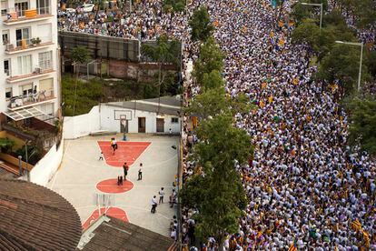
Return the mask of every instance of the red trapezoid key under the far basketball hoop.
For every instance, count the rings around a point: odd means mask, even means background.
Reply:
[[[107,165],[121,167],[124,162],[128,166],[134,164],[134,161],[143,154],[143,151],[150,146],[150,142],[129,142],[120,141],[117,142],[117,150],[115,154],[111,148],[110,141],[98,141],[98,145],[101,151],[104,153],[104,159]]]

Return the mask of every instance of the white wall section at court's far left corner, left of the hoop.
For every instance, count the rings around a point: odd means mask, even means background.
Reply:
[[[95,105],[88,114],[64,117],[64,138],[72,139],[88,136],[91,132],[100,130],[99,106]]]

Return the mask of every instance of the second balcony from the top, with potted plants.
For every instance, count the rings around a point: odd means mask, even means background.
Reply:
[[[36,37],[35,37],[36,38]],[[40,43],[33,44],[34,38],[17,40],[15,44],[6,44],[5,54],[14,55],[17,53],[24,53],[29,51],[34,51],[38,49],[43,49],[49,45],[54,45],[52,42],[52,37],[41,37]]]

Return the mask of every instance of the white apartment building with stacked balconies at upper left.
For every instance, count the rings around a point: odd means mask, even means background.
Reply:
[[[60,105],[56,1],[0,1],[0,113],[48,121]]]

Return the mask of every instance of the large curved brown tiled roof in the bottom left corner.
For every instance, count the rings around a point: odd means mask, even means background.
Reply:
[[[0,179],[1,250],[74,250],[82,235],[74,207],[54,191]]]

